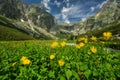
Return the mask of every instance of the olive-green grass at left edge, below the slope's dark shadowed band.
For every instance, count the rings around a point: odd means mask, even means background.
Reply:
[[[0,40],[32,40],[32,36],[27,35],[17,29],[0,25]]]

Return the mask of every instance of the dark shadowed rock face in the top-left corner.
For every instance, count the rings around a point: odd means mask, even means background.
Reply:
[[[19,4],[19,0],[0,0],[0,14],[12,19],[20,18]]]

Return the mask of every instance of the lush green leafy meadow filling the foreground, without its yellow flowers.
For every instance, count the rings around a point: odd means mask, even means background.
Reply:
[[[100,42],[88,42],[84,47],[51,48],[54,41],[0,42],[0,80],[119,80],[120,52],[110,51]],[[70,41],[71,42],[71,41]],[[91,52],[95,46],[96,53]],[[50,55],[55,55],[53,60]],[[23,65],[21,57],[31,61]],[[59,60],[65,64],[60,66]],[[16,62],[14,66],[12,64]]]

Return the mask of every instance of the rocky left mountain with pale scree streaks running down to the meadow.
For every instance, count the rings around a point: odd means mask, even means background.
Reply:
[[[9,19],[12,28],[25,32],[34,38],[57,39],[49,32],[51,27],[55,26],[56,19],[45,11],[43,5],[28,5],[21,3],[20,0],[0,0],[0,15]],[[0,25],[7,23],[2,19],[0,21]]]

